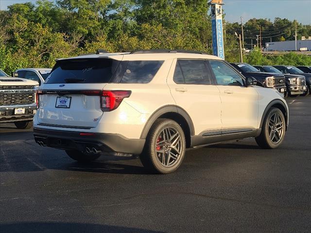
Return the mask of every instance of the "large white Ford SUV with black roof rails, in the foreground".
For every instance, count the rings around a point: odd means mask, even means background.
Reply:
[[[176,170],[186,148],[255,137],[278,147],[288,106],[218,57],[143,50],[58,59],[38,90],[40,146],[77,161],[101,152],[138,154],[153,172]]]

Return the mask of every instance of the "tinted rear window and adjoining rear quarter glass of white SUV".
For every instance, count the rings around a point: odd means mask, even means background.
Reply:
[[[57,61],[46,83],[149,83],[164,61],[109,58]]]

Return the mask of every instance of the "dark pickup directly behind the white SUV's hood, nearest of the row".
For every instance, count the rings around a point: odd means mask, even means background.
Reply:
[[[273,88],[284,95],[286,90],[285,77],[283,74],[274,72],[260,72],[257,68],[247,63],[231,63],[245,77],[254,77],[257,80],[257,85]]]

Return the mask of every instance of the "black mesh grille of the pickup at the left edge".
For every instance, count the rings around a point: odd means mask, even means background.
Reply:
[[[32,104],[35,102],[35,93],[0,93],[0,105]]]

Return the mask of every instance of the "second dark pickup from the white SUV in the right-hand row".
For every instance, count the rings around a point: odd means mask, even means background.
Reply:
[[[277,68],[272,66],[254,66],[257,69],[259,69],[261,72],[274,72],[274,73],[280,73]],[[298,74],[284,74],[285,76],[285,85],[286,85],[286,91],[284,93],[284,96],[295,96],[301,94],[301,88],[300,85],[297,84],[296,80],[303,80],[305,79],[305,76],[298,75]]]

